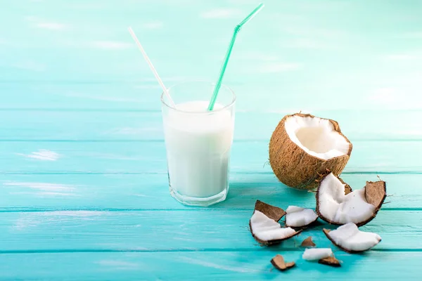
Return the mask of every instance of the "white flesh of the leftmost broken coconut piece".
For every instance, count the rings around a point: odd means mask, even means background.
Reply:
[[[296,233],[293,228],[281,228],[280,223],[260,211],[255,211],[250,218],[250,230],[257,239],[262,241],[283,240]]]

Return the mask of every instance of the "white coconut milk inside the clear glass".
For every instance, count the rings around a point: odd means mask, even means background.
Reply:
[[[218,104],[217,111],[207,114],[207,105],[178,104],[163,120],[170,185],[180,195],[210,197],[229,185],[234,118]]]

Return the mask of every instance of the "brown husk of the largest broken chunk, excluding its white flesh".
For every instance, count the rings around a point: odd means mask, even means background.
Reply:
[[[321,213],[319,212],[319,187],[321,186],[321,183],[326,176],[328,176],[328,174],[324,175],[322,180],[319,181],[319,186],[318,186],[318,189],[316,190],[316,195],[315,195],[316,209],[315,209],[315,211],[316,211],[316,214],[319,216],[319,218],[321,218],[322,220],[326,221],[327,223],[340,226],[343,223],[336,223],[335,221],[331,221],[328,218],[325,218],[324,216],[322,216]],[[352,192],[352,188],[350,188],[350,185],[347,185],[347,183],[345,183],[339,176],[336,176],[336,177],[343,184],[346,184],[345,195]],[[376,214],[378,214],[378,211],[381,209],[383,202],[385,200],[385,197],[387,197],[387,185],[386,185],[385,181],[376,181],[376,182],[366,181],[365,199],[366,199],[366,202],[375,206],[375,210],[373,211],[373,215],[371,216],[371,218],[368,218],[366,221],[355,223],[356,226],[358,226],[358,227],[364,226],[364,225],[366,225],[366,223],[369,223],[370,221],[372,221],[373,218],[376,217]]]

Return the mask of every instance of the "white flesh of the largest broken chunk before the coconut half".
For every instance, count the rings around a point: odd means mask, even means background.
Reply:
[[[366,202],[365,188],[345,195],[345,184],[333,173],[328,174],[318,189],[318,211],[330,223],[362,223],[376,212],[373,204]]]

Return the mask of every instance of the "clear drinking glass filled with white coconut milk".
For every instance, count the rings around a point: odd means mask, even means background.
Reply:
[[[204,81],[172,86],[168,91],[176,107],[161,96],[170,194],[182,204],[209,206],[229,191],[236,96],[222,86],[208,111],[214,87]]]

